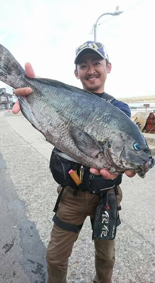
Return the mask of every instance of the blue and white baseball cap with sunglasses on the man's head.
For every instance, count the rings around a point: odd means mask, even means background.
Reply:
[[[100,54],[100,56],[104,59],[108,59],[107,52],[105,50],[104,45],[101,42],[96,42],[96,41],[86,41],[82,45],[78,46],[76,51],[75,51],[75,60],[74,64],[77,64],[78,59],[80,58],[79,55],[82,55],[81,52],[84,52],[84,50],[93,50],[94,52],[97,52]]]

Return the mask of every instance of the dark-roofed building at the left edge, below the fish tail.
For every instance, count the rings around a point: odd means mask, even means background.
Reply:
[[[12,109],[17,97],[12,89],[12,94],[6,92],[6,88],[0,88],[0,110]]]

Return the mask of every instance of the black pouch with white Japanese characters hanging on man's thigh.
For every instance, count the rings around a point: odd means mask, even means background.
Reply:
[[[92,239],[113,240],[117,227],[117,197],[115,192],[104,194],[97,205]]]

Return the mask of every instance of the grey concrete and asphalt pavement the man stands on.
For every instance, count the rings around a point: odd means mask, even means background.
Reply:
[[[45,283],[46,247],[57,184],[52,145],[19,113],[0,112],[0,283]],[[113,283],[155,283],[155,168],[124,176]],[[69,261],[68,283],[90,283],[94,245],[86,219]],[[53,282],[54,283],[54,282]]]

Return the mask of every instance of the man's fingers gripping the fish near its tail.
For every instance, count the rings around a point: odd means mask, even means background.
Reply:
[[[36,78],[30,63],[25,64],[25,73],[28,78],[32,78],[32,77]],[[31,92],[32,92],[32,88],[17,88],[14,91],[15,95],[21,95],[21,96],[29,95]],[[20,106],[19,106],[19,101],[17,100],[14,107],[12,108],[12,112],[14,114],[17,114],[19,111],[20,111]]]

